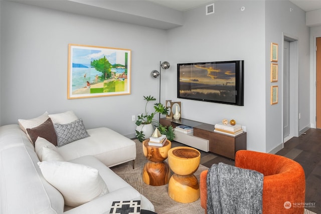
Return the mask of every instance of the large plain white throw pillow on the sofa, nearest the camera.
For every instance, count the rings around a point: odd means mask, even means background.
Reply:
[[[65,161],[43,161],[38,165],[68,206],[76,207],[108,193],[106,183],[95,168]]]

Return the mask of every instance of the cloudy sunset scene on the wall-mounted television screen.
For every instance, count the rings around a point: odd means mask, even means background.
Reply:
[[[189,99],[235,102],[235,63],[180,65],[179,92]]]

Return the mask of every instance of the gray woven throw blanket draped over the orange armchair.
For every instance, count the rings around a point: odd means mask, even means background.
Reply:
[[[207,213],[262,213],[263,177],[254,170],[213,164],[207,174]]]

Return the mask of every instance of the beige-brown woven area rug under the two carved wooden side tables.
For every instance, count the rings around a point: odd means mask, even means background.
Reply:
[[[155,207],[155,212],[158,214],[169,213],[202,213],[204,209],[201,207],[200,199],[192,203],[180,203],[174,201],[168,194],[168,184],[163,186],[150,186],[142,180],[142,169],[144,164],[148,161],[142,153],[142,143],[134,140],[136,143],[136,160],[135,168],[132,168],[131,161],[128,163],[113,166],[111,169],[118,174],[127,183],[133,186],[137,191],[150,200]],[[202,171],[207,170],[208,167],[200,165],[198,170],[194,173],[198,180]],[[171,172],[173,173],[173,172]]]

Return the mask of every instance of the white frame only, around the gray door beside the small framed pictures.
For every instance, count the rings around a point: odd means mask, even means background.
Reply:
[[[290,135],[284,138],[283,135],[283,97],[282,97],[282,139],[283,139],[283,147],[284,143],[289,140],[291,137],[298,137],[299,136],[299,119],[298,119],[298,38],[293,37],[291,35],[283,33],[282,35],[282,66],[279,68],[282,69],[281,76],[282,76],[282,92],[283,92],[283,62],[284,62],[284,54],[283,54],[283,47],[284,41],[290,43],[290,91],[292,96],[290,96],[290,103],[294,105],[290,105]]]

